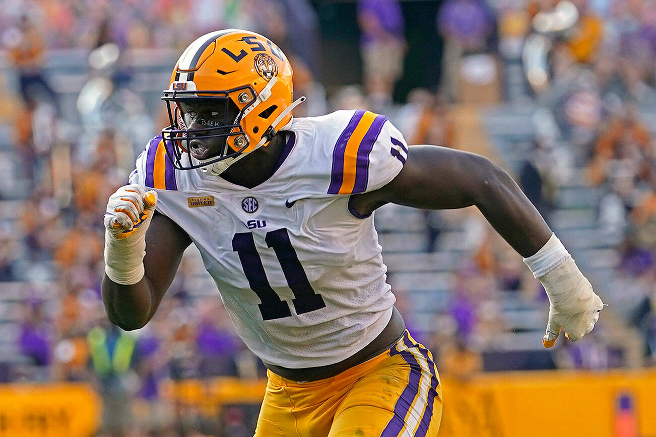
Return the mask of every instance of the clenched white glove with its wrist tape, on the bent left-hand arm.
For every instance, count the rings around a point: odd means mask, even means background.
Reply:
[[[136,284],[144,276],[146,229],[157,203],[156,191],[125,185],[110,196],[105,212],[105,273],[117,284]]]

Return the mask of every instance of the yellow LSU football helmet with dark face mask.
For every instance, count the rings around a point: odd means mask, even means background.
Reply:
[[[268,145],[291,122],[293,71],[287,56],[269,39],[251,31],[224,29],[207,33],[184,50],[173,69],[167,102],[170,126],[162,137],[169,158],[180,170],[203,168],[220,174],[248,153]],[[211,115],[188,126],[183,108],[209,106]],[[197,114],[187,109],[192,118]],[[216,115],[216,119],[213,116]],[[190,152],[192,139],[223,138],[221,151],[207,159]]]

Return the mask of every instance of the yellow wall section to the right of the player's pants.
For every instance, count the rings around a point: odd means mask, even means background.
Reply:
[[[656,371],[488,373],[443,396],[443,437],[656,436]]]

